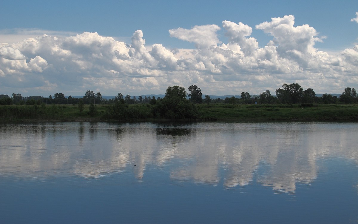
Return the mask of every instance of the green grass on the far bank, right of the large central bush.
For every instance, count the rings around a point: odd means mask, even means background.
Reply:
[[[202,118],[233,121],[358,120],[357,104],[200,105]]]

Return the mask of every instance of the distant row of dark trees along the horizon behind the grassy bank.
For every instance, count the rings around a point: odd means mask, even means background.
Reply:
[[[357,91],[353,88],[346,87],[342,94],[337,96],[332,96],[330,94],[323,94],[321,97],[317,97],[313,89],[306,89],[297,84],[283,84],[282,89],[279,88],[276,90],[276,95],[273,96],[270,93],[270,90],[263,91],[260,96],[251,96],[248,92],[242,92],[241,98],[226,97],[225,99],[211,99],[209,95],[203,94],[201,89],[196,85],[188,87],[189,93],[185,94],[185,97],[189,97],[189,101],[195,104],[206,103],[206,104],[313,104],[313,103],[324,103],[324,104],[337,104],[337,103],[358,103]],[[185,91],[186,92],[186,91]],[[63,93],[55,93],[53,96],[49,97],[42,96],[27,96],[22,97],[21,94],[13,93],[10,96],[0,95],[0,105],[41,105],[41,104],[73,104],[76,105],[80,101],[83,104],[115,104],[117,101],[124,101],[125,104],[135,104],[135,103],[148,103],[155,105],[158,100],[161,100],[160,97],[155,98],[150,96],[139,96],[138,99],[136,96],[122,95],[121,92],[112,98],[112,99],[103,99],[100,92],[93,92],[92,90],[87,90],[82,98],[75,98],[72,96],[65,97]]]

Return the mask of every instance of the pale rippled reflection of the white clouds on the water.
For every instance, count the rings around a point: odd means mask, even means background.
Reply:
[[[352,123],[2,123],[0,176],[145,181],[146,172],[169,172],[173,181],[294,193],[315,181],[320,158],[358,164],[354,133]]]

